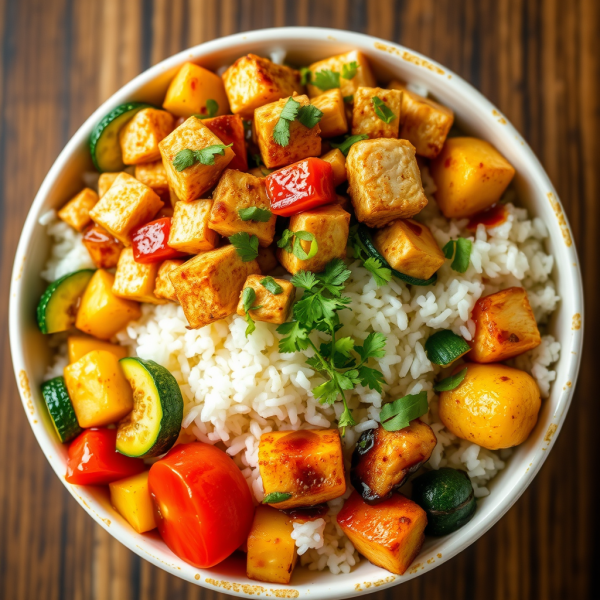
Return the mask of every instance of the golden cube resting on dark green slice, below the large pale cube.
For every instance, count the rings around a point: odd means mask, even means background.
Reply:
[[[429,279],[446,260],[429,228],[412,219],[377,230],[373,242],[392,269],[415,279]]]

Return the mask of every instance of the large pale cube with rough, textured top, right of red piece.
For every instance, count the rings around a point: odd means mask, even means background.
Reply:
[[[369,227],[413,217],[427,205],[415,148],[407,140],[356,142],[346,172],[356,218]]]

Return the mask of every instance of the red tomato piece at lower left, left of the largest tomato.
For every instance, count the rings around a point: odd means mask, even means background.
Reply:
[[[65,479],[77,485],[106,485],[146,468],[139,458],[119,454],[116,444],[116,429],[86,429],[69,446]]]

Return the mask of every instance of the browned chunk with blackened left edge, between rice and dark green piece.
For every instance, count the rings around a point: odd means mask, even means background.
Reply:
[[[436,443],[433,430],[420,419],[398,431],[381,425],[367,429],[352,454],[350,482],[366,502],[381,502],[429,460]]]

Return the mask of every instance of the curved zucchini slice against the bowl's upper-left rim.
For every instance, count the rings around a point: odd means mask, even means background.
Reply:
[[[154,108],[145,102],[126,102],[111,110],[92,130],[90,154],[101,173],[120,171],[125,166],[119,145],[119,131],[142,108]]]

